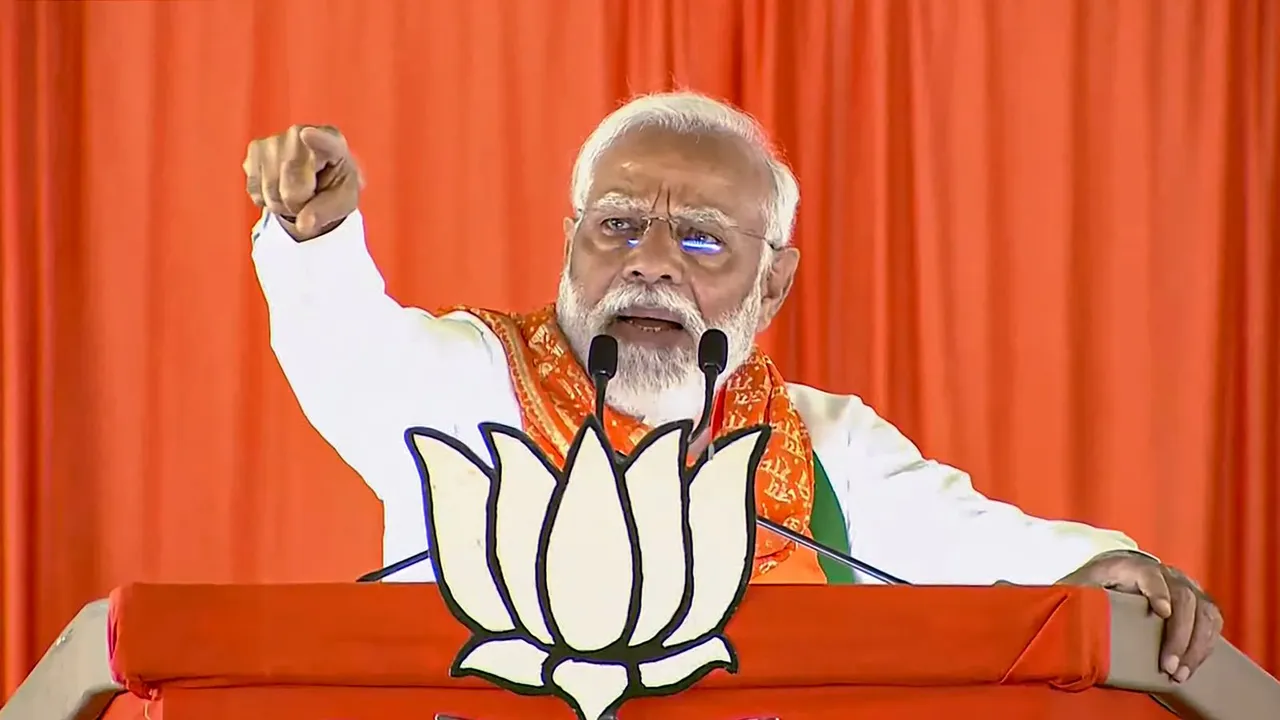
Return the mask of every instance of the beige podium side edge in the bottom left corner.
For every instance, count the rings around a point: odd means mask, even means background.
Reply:
[[[4,706],[0,720],[96,720],[124,688],[111,676],[106,598],[86,605]]]

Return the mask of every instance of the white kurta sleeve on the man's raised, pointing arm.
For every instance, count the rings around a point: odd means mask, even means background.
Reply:
[[[500,346],[470,315],[436,318],[390,299],[360,213],[306,242],[264,214],[252,255],[271,348],[307,420],[384,502],[417,497],[404,430],[486,419],[486,397],[509,392]]]

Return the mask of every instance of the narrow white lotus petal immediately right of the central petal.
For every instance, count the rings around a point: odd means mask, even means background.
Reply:
[[[632,456],[626,471],[643,578],[640,618],[628,641],[632,646],[652,641],[685,598],[682,430],[673,424],[669,430],[659,428],[654,433],[653,441]]]

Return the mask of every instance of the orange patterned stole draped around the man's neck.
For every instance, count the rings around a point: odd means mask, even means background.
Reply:
[[[556,307],[508,315],[457,306],[475,315],[502,341],[524,430],[557,464],[564,462],[573,436],[595,406],[595,387],[556,324]],[[756,512],[812,537],[813,446],[787,396],[782,374],[755,350],[724,383],[724,424],[718,434],[768,424],[769,442],[755,478]],[[612,409],[604,429],[614,448],[630,454],[652,428]],[[753,583],[824,584],[818,556],[768,530],[755,534]]]

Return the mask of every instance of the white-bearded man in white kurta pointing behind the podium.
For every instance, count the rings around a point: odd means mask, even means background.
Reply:
[[[554,305],[431,315],[388,297],[365,247],[361,176],[342,135],[293,127],[250,143],[248,192],[265,213],[253,261],[271,346],[302,410],[385,507],[384,555],[426,546],[421,486],[403,432],[425,425],[486,456],[477,424],[521,427],[563,460],[593,411],[582,364],[617,338],[605,424],[630,451],[648,428],[701,413],[696,342],[728,337],[713,437],[772,428],[760,515],[914,583],[1102,584],[1169,619],[1161,666],[1184,680],[1221,616],[1198,587],[1125,536],[1030,518],[927,460],[858,397],[788,383],[754,337],[791,290],[800,193],[746,114],[694,94],[640,97],[605,118],[573,167],[573,217]],[[758,534],[753,582],[868,582]],[[421,564],[403,580],[429,580]]]

